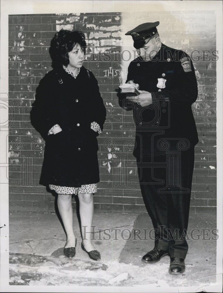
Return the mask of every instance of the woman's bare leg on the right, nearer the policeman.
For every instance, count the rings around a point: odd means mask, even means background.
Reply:
[[[92,193],[80,193],[78,194],[80,203],[80,220],[81,220],[81,232],[83,237],[83,245],[87,251],[95,250],[91,244],[92,236],[92,217],[94,211],[93,195]],[[83,227],[86,226],[86,227]]]

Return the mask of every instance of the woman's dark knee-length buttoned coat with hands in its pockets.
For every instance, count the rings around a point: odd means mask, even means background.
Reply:
[[[97,132],[101,130],[106,109],[96,78],[84,67],[77,78],[61,67],[41,79],[31,110],[31,122],[45,139],[40,184],[80,187],[99,182]],[[62,131],[48,135],[59,124]]]

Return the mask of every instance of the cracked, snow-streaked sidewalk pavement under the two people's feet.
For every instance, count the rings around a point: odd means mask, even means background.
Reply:
[[[82,251],[76,212],[73,218],[76,255],[68,259],[63,255],[65,233],[55,212],[10,213],[10,285],[136,286],[137,290],[146,288],[152,292],[155,287],[199,288],[215,283],[215,240],[189,240],[186,271],[182,275],[170,275],[168,256],[154,264],[141,261],[153,248],[152,240],[143,240],[143,232],[141,240],[136,236],[136,229],[153,228],[146,213],[94,213],[92,242],[101,253],[98,262]],[[187,231],[194,228],[216,229],[216,216],[190,214]]]

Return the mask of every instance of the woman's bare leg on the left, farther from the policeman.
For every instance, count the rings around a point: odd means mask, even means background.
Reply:
[[[71,202],[71,194],[58,194],[57,205],[60,212],[60,217],[67,234],[67,247],[75,247],[75,235],[73,230],[73,209]]]

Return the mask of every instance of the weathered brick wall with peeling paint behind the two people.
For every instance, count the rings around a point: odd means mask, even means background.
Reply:
[[[161,40],[170,47],[188,54],[193,50],[216,49],[216,18],[212,11],[196,11],[196,15],[195,11],[142,13],[140,23],[148,21],[160,21]],[[94,195],[95,208],[146,211],[132,155],[132,114],[125,112],[123,116],[115,92],[125,81],[131,61],[121,60],[120,52],[133,49],[131,38],[124,33],[140,23],[134,15],[118,12],[9,16],[11,210],[54,210],[54,196],[38,183],[44,142],[32,128],[29,113],[40,79],[51,70],[50,41],[64,28],[85,32],[89,48],[84,66],[96,76],[107,108],[104,131],[98,138],[101,181]],[[216,63],[202,60],[193,63],[199,95],[192,108],[200,141],[195,147],[191,211],[212,213],[216,209]]]

